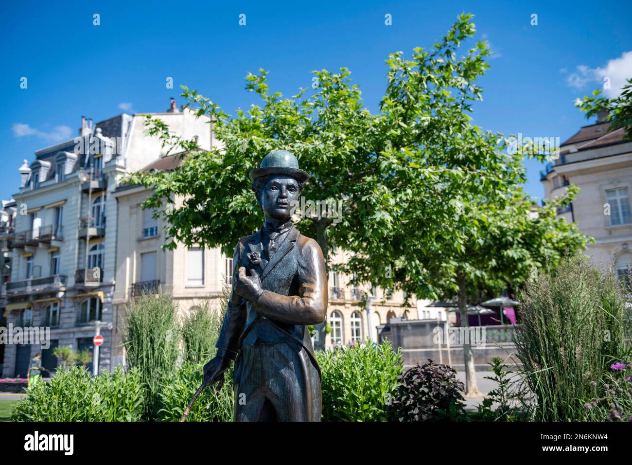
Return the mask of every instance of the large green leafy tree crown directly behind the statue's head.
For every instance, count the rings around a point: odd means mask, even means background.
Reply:
[[[231,254],[239,237],[261,223],[248,172],[273,149],[288,149],[312,174],[306,199],[343,206],[336,218],[304,214],[298,228],[317,240],[325,260],[332,247],[356,252],[351,268],[374,268],[375,276],[362,271],[363,281],[381,280],[385,264],[394,263],[405,247],[389,245],[389,238],[411,209],[425,212],[424,228],[434,228],[447,218],[445,201],[463,185],[483,193],[502,181],[501,170],[492,168],[511,168],[486,144],[477,144],[467,163],[463,158],[471,142],[468,112],[481,98],[475,80],[487,69],[483,57],[489,54],[485,42],[465,56],[456,54],[475,32],[471,17],[461,15],[430,51],[418,47],[410,60],[401,52],[389,56],[387,90],[376,115],[363,107],[360,88],[351,84],[346,68],[313,71],[316,88],[300,89],[292,98],[269,91],[266,71],[248,74],[246,89],[262,105],[233,116],[184,87],[189,108],[212,116],[222,146],[202,151],[194,139],[174,135],[147,115],[147,133],[183,158],[177,170],[129,178],[153,190],[143,207],[166,220],[164,247],[173,249],[178,241],[220,246]],[[164,208],[178,198],[181,205]]]

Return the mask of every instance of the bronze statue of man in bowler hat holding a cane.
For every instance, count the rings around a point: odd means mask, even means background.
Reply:
[[[250,172],[264,224],[235,247],[217,355],[204,366],[212,384],[236,359],[235,421],[320,421],[320,368],[307,325],[327,313],[325,261],[317,242],[291,223],[309,177],[282,150]]]

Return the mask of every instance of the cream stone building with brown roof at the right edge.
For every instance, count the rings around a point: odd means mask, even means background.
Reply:
[[[615,263],[623,276],[632,260],[632,139],[624,139],[623,128],[608,132],[605,116],[561,144],[559,158],[540,172],[540,180],[547,199],[563,194],[569,183],[580,188],[558,214],[595,239],[586,251],[595,264]]]

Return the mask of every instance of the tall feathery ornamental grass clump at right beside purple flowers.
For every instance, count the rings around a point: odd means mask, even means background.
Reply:
[[[592,417],[585,399],[609,362],[626,350],[630,320],[621,283],[585,256],[564,259],[557,270],[526,283],[521,295],[516,350],[533,394],[536,421]]]

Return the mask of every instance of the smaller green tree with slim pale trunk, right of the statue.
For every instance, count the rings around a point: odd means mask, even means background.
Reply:
[[[513,290],[540,268],[554,268],[567,252],[585,247],[589,240],[575,223],[557,216],[557,209],[576,195],[578,189],[573,185],[540,209],[532,208],[532,200],[520,186],[502,189],[506,189],[504,201],[476,196],[456,200],[453,219],[444,225],[442,237],[428,241],[420,235],[411,242],[410,260],[420,259],[437,295],[443,299],[456,296],[461,326],[468,326],[468,304],[487,300],[469,300],[476,299],[479,290],[494,295]],[[466,397],[480,397],[468,338],[463,342],[463,354]]]

